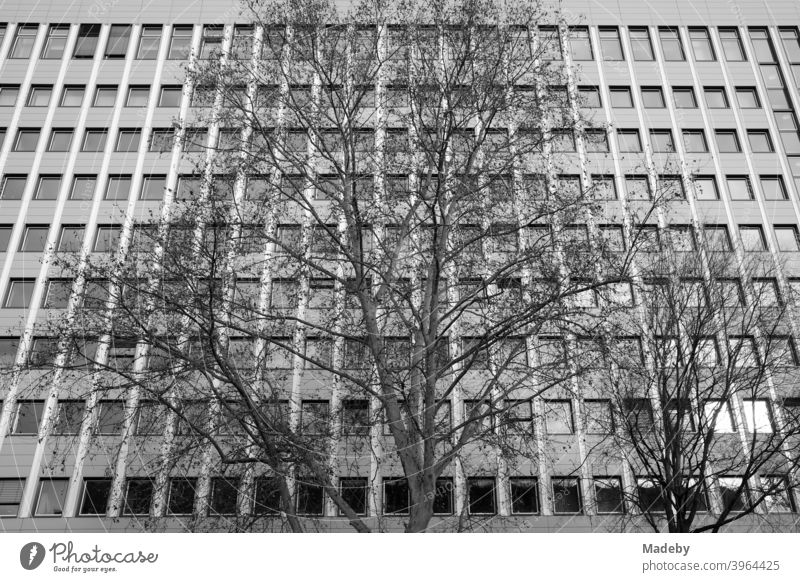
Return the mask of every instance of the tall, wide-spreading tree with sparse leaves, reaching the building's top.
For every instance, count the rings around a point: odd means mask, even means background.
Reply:
[[[204,32],[190,64],[173,156],[191,169],[161,215],[106,259],[62,257],[58,365],[88,372],[90,404],[126,399],[118,468],[161,491],[197,475],[198,515],[233,503],[236,527],[280,511],[302,531],[329,503],[370,531],[383,505],[423,531],[443,478],[535,459],[531,403],[623,308],[608,290],[632,251],[562,153],[587,139],[563,28],[535,2],[245,8],[252,26]],[[136,438],[148,414],[158,451]],[[236,483],[219,499],[215,475]],[[253,483],[263,498],[237,496]]]

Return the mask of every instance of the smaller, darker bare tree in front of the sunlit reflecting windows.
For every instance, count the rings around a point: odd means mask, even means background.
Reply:
[[[709,231],[694,250],[675,238],[641,261],[638,313],[609,328],[607,359],[594,362],[607,367],[587,421],[608,433],[594,452],[630,473],[597,502],[627,506],[623,521],[656,531],[780,519],[795,503],[800,429],[784,406],[797,365],[788,298],[771,259],[734,253]]]

